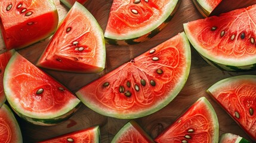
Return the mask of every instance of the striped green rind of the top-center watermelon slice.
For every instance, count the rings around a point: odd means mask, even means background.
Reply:
[[[104,33],[105,41],[112,45],[133,45],[140,42],[144,42],[147,39],[152,38],[153,36],[161,32],[161,30],[164,29],[164,27],[169,23],[169,21],[171,21],[172,17],[178,10],[180,2],[181,2],[180,0],[174,0],[174,2],[170,2],[169,8],[166,8],[168,12],[164,14],[161,20],[159,20],[159,23],[150,25],[148,26],[147,29],[136,31],[131,36],[111,35],[110,33],[105,32]],[[144,37],[144,38],[141,39],[141,37]]]

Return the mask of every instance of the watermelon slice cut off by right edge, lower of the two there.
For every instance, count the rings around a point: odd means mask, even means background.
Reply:
[[[256,76],[242,75],[220,80],[207,89],[224,110],[256,140]]]

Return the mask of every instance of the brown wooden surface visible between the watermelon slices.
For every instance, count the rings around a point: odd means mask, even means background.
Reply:
[[[60,20],[62,20],[67,13],[67,8],[63,4],[60,4],[58,0],[55,0],[55,4],[57,5]],[[88,8],[88,10],[98,20],[98,23],[100,23],[103,30],[106,28],[111,4],[112,1],[110,0],[88,0],[87,4],[85,4],[85,7]],[[223,0],[219,7],[215,9],[213,14],[220,14],[236,8],[247,7],[248,5],[252,4],[256,4],[256,1],[237,0],[234,2],[230,0]],[[188,21],[196,20],[198,18],[202,18],[202,15],[196,10],[195,6],[192,4],[192,0],[181,0],[180,7],[178,7],[178,11],[172,18],[171,22],[154,38],[150,39],[149,41],[131,46],[106,45],[107,65],[106,69],[101,73],[76,74],[52,70],[45,71],[55,77],[55,79],[57,79],[59,82],[67,86],[67,88],[69,88],[71,91],[76,92],[88,82],[91,82],[92,80],[97,79],[116,67],[121,66],[121,64],[131,60],[134,57],[137,57],[137,55],[140,55],[159,43],[164,42],[166,39],[172,38],[173,36],[177,35],[177,33],[183,32],[183,23],[187,23]],[[36,63],[39,55],[41,55],[48,41],[49,38],[45,39],[45,41],[41,41],[32,46],[21,49],[18,52],[20,52],[21,55],[26,57],[32,63]],[[4,48],[2,39],[0,39],[0,48]],[[231,117],[229,117],[229,115],[226,114],[225,111],[222,110],[220,106],[205,93],[205,90],[218,80],[239,74],[255,74],[255,71],[234,73],[215,69],[214,67],[206,64],[192,47],[192,67],[190,70],[189,79],[187,80],[187,83],[180,94],[178,94],[177,97],[162,110],[135,120],[144,130],[146,130],[147,133],[149,133],[150,136],[152,136],[152,138],[155,138],[159,132],[174,122],[180,114],[182,114],[190,105],[193,104],[193,102],[204,96],[211,102],[217,113],[220,124],[220,135],[221,133],[231,132],[249,139],[249,136],[243,132],[243,130],[231,119]],[[110,142],[113,136],[125,123],[128,122],[128,120],[102,116],[90,110],[85,105],[82,105],[78,112],[76,112],[69,120],[61,123],[60,125],[36,126],[24,122],[24,120],[19,118],[18,122],[20,123],[24,142],[41,141],[43,139],[62,135],[64,133],[88,128],[93,125],[100,125],[101,142]]]

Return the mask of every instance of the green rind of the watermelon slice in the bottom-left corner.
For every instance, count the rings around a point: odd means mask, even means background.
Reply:
[[[5,112],[8,114],[8,116],[10,117],[10,119],[12,120],[12,123],[14,124],[14,126],[16,128],[15,131],[16,131],[16,136],[18,138],[18,141],[16,141],[16,142],[17,143],[23,142],[22,134],[21,134],[21,130],[20,130],[20,125],[18,125],[18,122],[16,120],[16,117],[13,114],[13,111],[11,111],[11,109],[6,104],[2,105],[1,110],[5,110]]]

